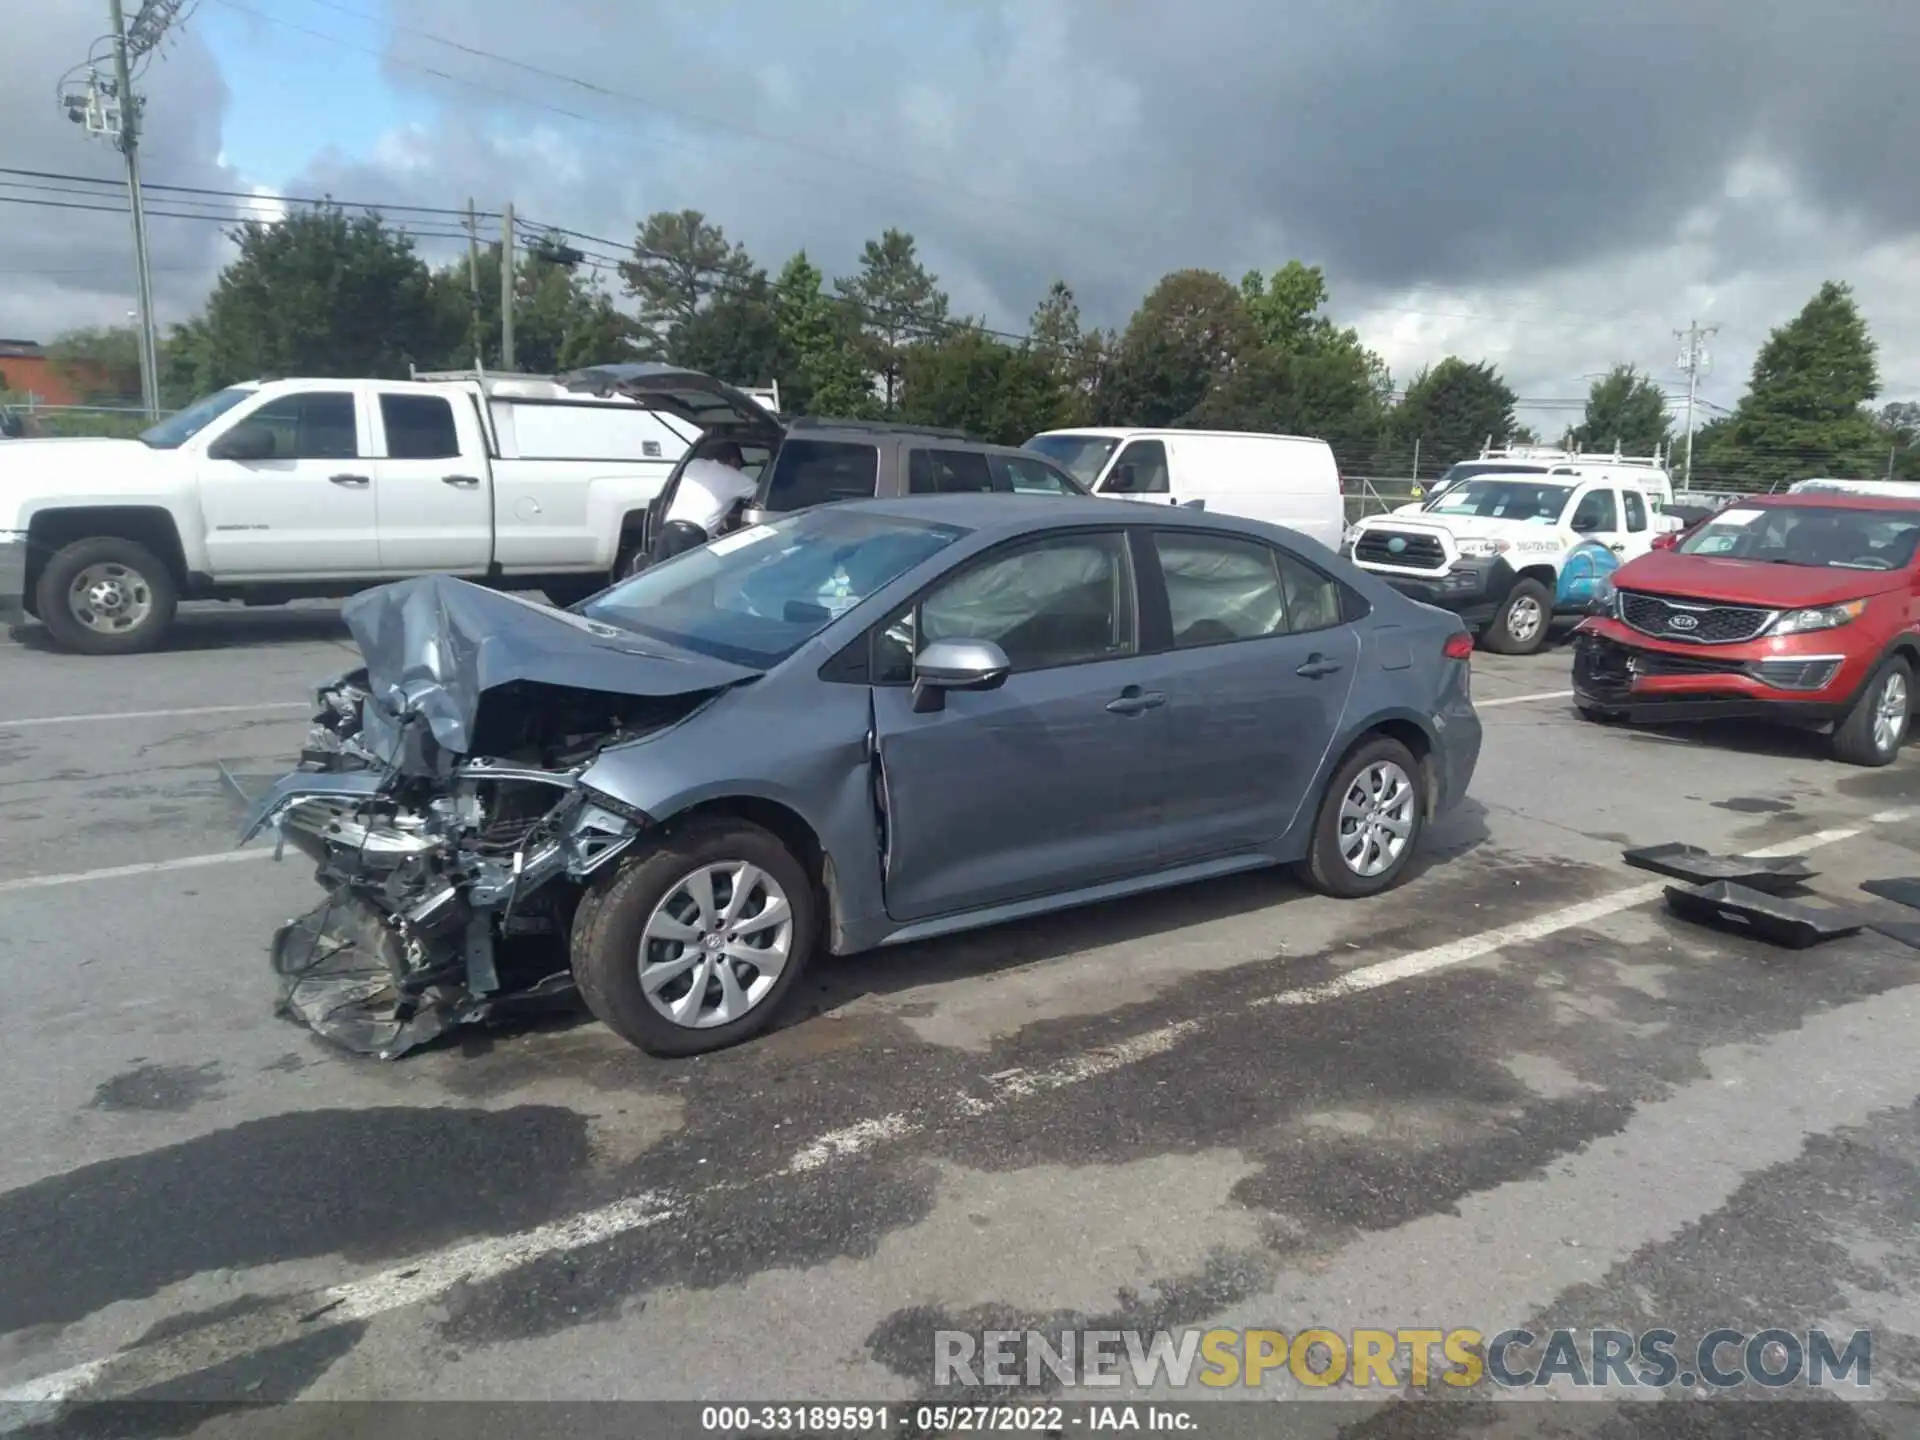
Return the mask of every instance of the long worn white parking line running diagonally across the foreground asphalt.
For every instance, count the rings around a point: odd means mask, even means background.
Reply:
[[[1895,824],[1912,816],[1920,816],[1920,810],[1882,810],[1857,826],[1822,829],[1780,845],[1749,851],[1747,854],[1763,858],[1807,854],[1864,835],[1874,826]],[[1540,941],[1576,925],[1590,925],[1605,916],[1630,910],[1636,904],[1645,904],[1659,897],[1663,883],[1632,885],[1611,895],[1549,910],[1532,920],[1521,920],[1513,925],[1488,929],[1373,966],[1359,966],[1325,985],[1260,996],[1250,1002],[1250,1008],[1327,1004],[1384,985],[1432,975],[1509,945]],[[1181,1041],[1206,1029],[1206,1023],[1204,1020],[1181,1020],[1144,1035],[1089,1050],[1083,1056],[1064,1060],[1046,1069],[1008,1069],[983,1077],[983,1085],[989,1091],[987,1098],[956,1096],[954,1110],[968,1117],[987,1116],[1044,1091],[1060,1091],[1110,1075],[1123,1066],[1165,1054]],[[933,1116],[927,1119],[933,1119]],[[924,1125],[925,1121],[902,1112],[876,1116],[816,1137],[812,1142],[803,1144],[787,1165],[770,1175],[716,1181],[684,1196],[662,1192],[628,1196],[626,1200],[614,1200],[612,1204],[586,1210],[518,1235],[492,1236],[436,1250],[361,1281],[284,1296],[265,1309],[236,1315],[202,1331],[173,1334],[115,1356],[88,1359],[63,1371],[40,1375],[33,1380],[0,1388],[0,1405],[13,1411],[12,1417],[8,1411],[0,1411],[0,1432],[50,1419],[46,1411],[54,1411],[61,1404],[100,1386],[108,1386],[117,1394],[131,1394],[240,1359],[273,1344],[284,1344],[292,1336],[315,1334],[323,1327],[365,1321],[407,1306],[438,1300],[457,1284],[497,1281],[547,1256],[601,1244],[620,1235],[659,1225],[670,1217],[687,1215],[703,1200],[741,1190],[764,1179],[826,1171],[841,1160],[851,1160],[889,1140],[916,1135]]]

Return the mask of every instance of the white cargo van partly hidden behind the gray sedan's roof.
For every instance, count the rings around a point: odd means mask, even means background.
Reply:
[[[1027,442],[1096,495],[1244,515],[1340,547],[1346,501],[1325,440],[1246,430],[1046,430]]]

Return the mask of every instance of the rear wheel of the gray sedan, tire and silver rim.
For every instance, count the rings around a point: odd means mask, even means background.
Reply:
[[[1379,895],[1400,883],[1425,829],[1421,762],[1398,739],[1375,735],[1332,772],[1300,879],[1340,899]]]

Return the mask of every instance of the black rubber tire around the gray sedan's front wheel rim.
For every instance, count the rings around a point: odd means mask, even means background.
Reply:
[[[655,908],[689,874],[726,860],[745,860],[764,870],[785,891],[791,910],[787,964],[747,1014],[724,1025],[695,1029],[662,1016],[641,989],[641,935]],[[812,879],[774,835],[743,820],[695,820],[645,856],[628,862],[605,891],[582,902],[572,939],[574,981],[588,1010],[647,1054],[678,1058],[722,1050],[778,1020],[812,958],[820,933],[818,914]],[[668,981],[666,989],[672,985]]]

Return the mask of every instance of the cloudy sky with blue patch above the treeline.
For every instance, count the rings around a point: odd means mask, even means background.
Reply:
[[[12,12],[0,167],[115,177],[54,104],[106,0]],[[1839,278],[1885,399],[1920,399],[1916,56],[1912,0],[198,0],[144,79],[148,180],[180,186],[150,198],[157,303],[192,313],[227,253],[204,217],[257,205],[188,188],[511,202],[611,242],[697,207],[829,275],[906,228],[1002,328],[1056,276],[1119,324],[1169,269],[1302,257],[1398,378],[1461,353],[1536,401],[1617,361],[1678,390],[1699,319],[1730,405]],[[65,188],[0,175],[98,204]],[[127,317],[125,217],[0,213],[0,336]]]

